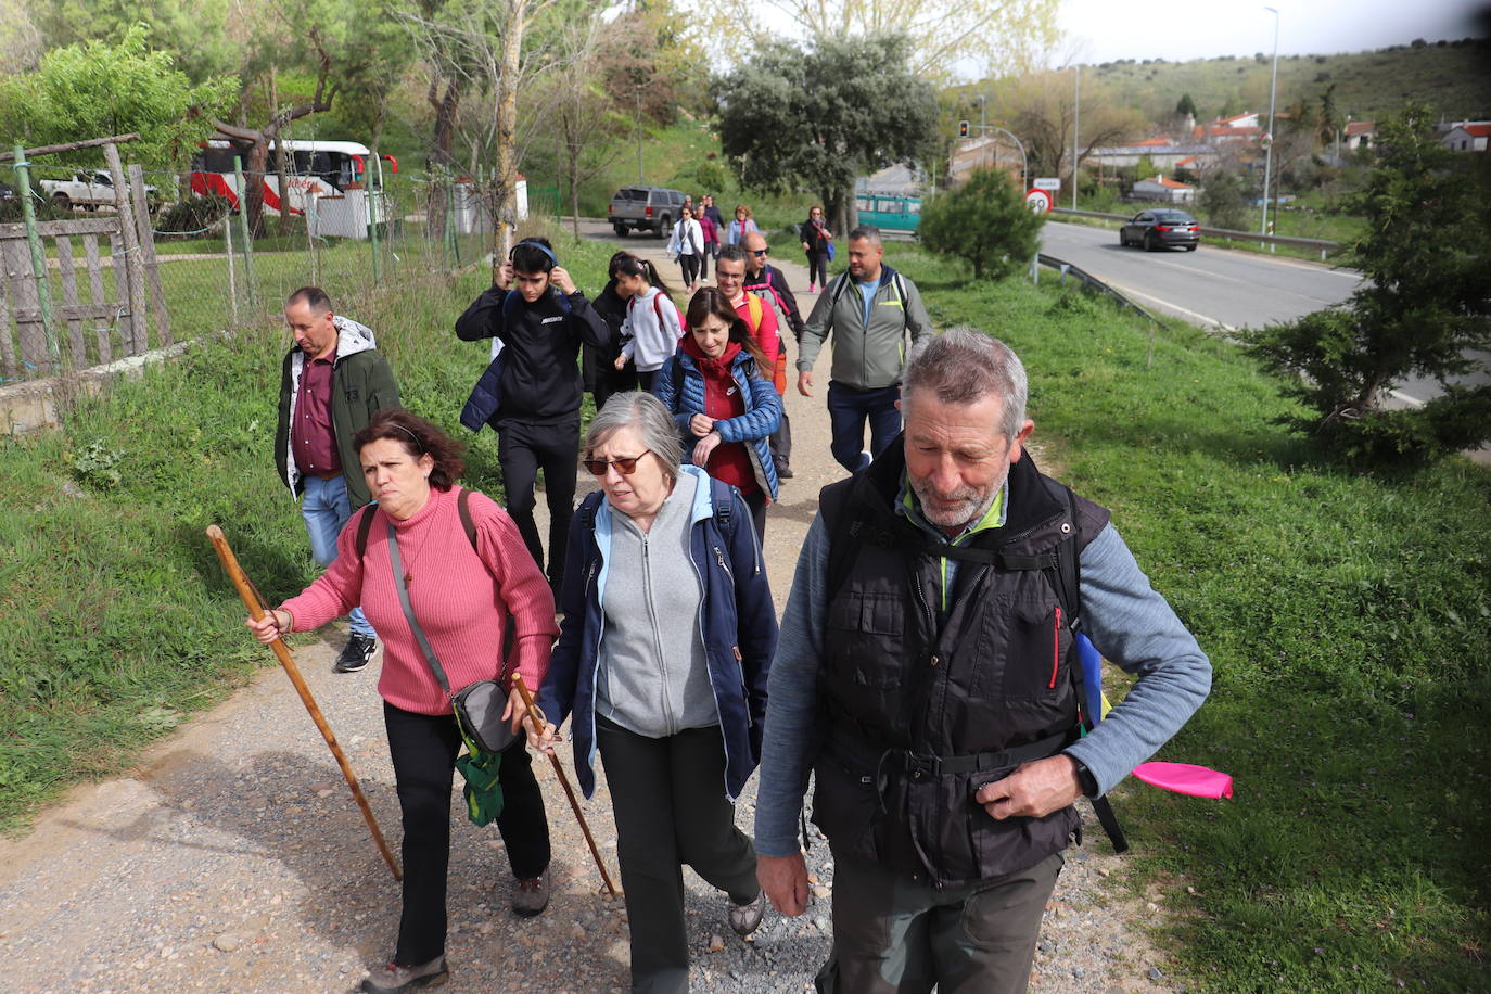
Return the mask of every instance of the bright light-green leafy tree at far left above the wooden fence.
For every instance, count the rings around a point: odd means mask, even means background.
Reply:
[[[130,158],[167,168],[212,134],[209,115],[225,107],[237,80],[192,85],[167,52],[151,51],[143,24],[116,45],[86,42],[48,52],[34,73],[0,82],[0,134],[55,145],[139,131]],[[55,161],[92,164],[97,149]]]

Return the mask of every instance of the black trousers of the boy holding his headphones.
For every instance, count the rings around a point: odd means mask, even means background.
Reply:
[[[549,502],[549,586],[564,587],[564,557],[574,517],[574,483],[580,455],[580,414],[573,422],[528,425],[504,420],[497,429],[497,460],[502,466],[507,513],[513,516],[523,544],[538,568],[544,568],[544,547],[538,539],[534,486],[544,471],[544,499]]]

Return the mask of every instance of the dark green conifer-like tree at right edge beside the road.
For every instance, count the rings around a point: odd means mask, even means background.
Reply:
[[[1294,426],[1366,460],[1430,460],[1491,438],[1491,386],[1451,383],[1491,368],[1491,197],[1475,156],[1446,151],[1433,125],[1421,104],[1381,125],[1376,165],[1354,198],[1366,231],[1351,262],[1367,280],[1351,300],[1245,335],[1267,368],[1299,377],[1290,392],[1314,414]],[[1446,392],[1422,408],[1384,408],[1409,376]]]

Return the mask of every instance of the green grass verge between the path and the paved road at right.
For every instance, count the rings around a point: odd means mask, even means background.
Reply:
[[[1139,879],[1184,876],[1160,939],[1200,990],[1487,990],[1491,474],[1348,472],[1273,425],[1278,383],[1229,344],[1085,297],[971,286],[887,256],[939,323],[1009,341],[1036,440],[1114,520],[1215,666],[1160,759],[1227,802],[1139,784]],[[1173,975],[1173,970],[1170,970]]]

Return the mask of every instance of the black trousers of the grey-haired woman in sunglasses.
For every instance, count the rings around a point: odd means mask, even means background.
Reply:
[[[650,739],[599,715],[595,732],[616,814],[632,991],[687,991],[683,866],[737,905],[760,894],[756,849],[725,797],[725,738],[711,726]]]

